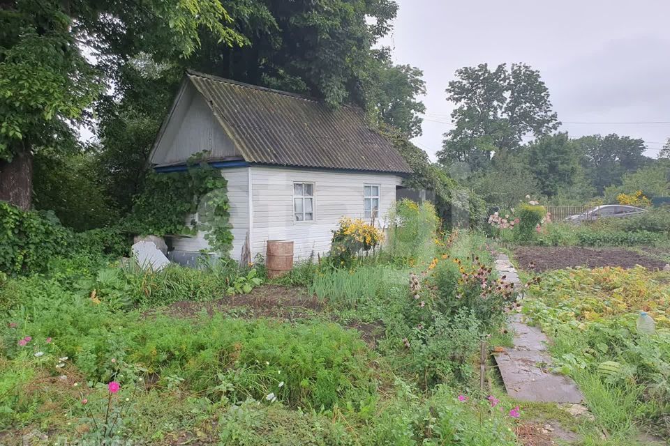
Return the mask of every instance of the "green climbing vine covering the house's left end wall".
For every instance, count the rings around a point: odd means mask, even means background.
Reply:
[[[212,249],[228,254],[232,233],[227,186],[221,172],[197,158],[188,163],[184,172],[152,172],[124,227],[154,236],[205,231]],[[187,222],[188,215],[198,218]]]

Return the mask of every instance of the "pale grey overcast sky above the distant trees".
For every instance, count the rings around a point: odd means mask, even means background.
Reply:
[[[427,116],[414,141],[433,159],[452,128],[447,84],[457,69],[484,62],[539,70],[572,137],[642,138],[653,157],[670,137],[670,123],[616,124],[670,121],[670,0],[396,1],[382,43],[396,63],[424,71]],[[594,121],[615,123],[569,124]]]

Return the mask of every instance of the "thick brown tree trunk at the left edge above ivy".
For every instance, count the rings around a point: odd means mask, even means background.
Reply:
[[[19,151],[11,162],[0,160],[0,200],[29,210],[33,194],[33,155]]]

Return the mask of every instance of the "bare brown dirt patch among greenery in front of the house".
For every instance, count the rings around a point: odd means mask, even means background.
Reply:
[[[309,295],[305,289],[292,286],[262,285],[248,294],[238,294],[211,302],[193,302],[183,300],[174,302],[161,309],[162,312],[177,317],[193,317],[206,311],[209,316],[215,312],[238,313],[245,318],[278,318],[284,321],[308,318],[319,314],[329,317],[327,308],[316,296]],[[151,316],[154,311],[145,316]],[[338,322],[333,319],[334,322]],[[381,323],[350,321],[343,324],[347,328],[358,330],[361,339],[374,348],[376,340],[384,334]]]

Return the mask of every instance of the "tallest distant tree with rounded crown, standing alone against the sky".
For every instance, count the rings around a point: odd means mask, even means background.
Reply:
[[[541,137],[559,124],[539,72],[523,63],[461,68],[449,82],[447,99],[456,109],[455,128],[445,133],[438,152],[445,165],[460,161],[473,170],[486,168],[493,153],[505,157],[521,146],[524,135]]]

